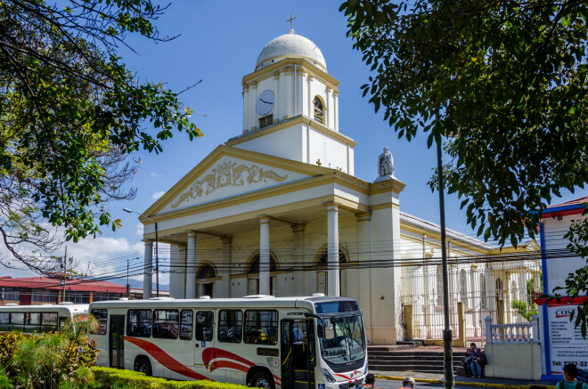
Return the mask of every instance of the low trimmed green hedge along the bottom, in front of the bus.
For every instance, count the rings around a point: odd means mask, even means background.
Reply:
[[[101,387],[133,388],[133,389],[247,389],[244,385],[225,384],[213,381],[174,381],[165,378],[147,377],[143,373],[132,370],[99,368],[94,366],[94,377]]]

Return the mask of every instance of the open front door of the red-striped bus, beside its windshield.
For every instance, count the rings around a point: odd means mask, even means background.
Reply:
[[[314,388],[314,321],[282,320],[282,389]]]

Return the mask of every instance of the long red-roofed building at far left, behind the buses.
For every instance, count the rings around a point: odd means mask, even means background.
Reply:
[[[126,287],[109,281],[67,280],[65,291],[60,281],[47,277],[0,277],[0,305],[57,304],[62,301],[87,304],[127,296]]]

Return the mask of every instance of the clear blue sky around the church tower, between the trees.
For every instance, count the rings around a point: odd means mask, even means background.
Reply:
[[[69,243],[69,255],[81,263],[105,263],[105,259],[134,250],[143,252],[136,215],[124,213],[122,208],[143,212],[216,146],[241,134],[241,78],[254,70],[257,55],[270,40],[288,32],[290,23],[286,20],[290,12],[297,18],[296,33],[314,41],[323,52],[329,74],[340,81],[339,131],[357,142],[355,175],[372,182],[378,175],[377,158],[388,146],[396,177],[406,183],[400,197],[401,209],[438,223],[438,194],[427,186],[437,163],[435,149],[427,149],[423,134],[412,142],[398,140],[381,113],[375,114],[368,99],[362,97],[360,86],[367,82],[369,71],[346,36],[347,20],[339,12],[341,2],[176,0],[156,22],[162,36],[179,35],[176,39],[155,44],[129,36],[127,43],[136,53],[121,48],[119,54],[142,80],[162,81],[180,91],[202,79],[200,85],[182,94],[182,100],[185,106],[206,115],[192,116],[204,136],[189,142],[185,134],[175,134],[163,143],[162,154],[137,153],[135,158],[141,158],[142,163],[131,182],[138,189],[136,199],[109,205],[111,215],[121,219],[122,228],[104,231],[99,239],[86,239],[77,246]],[[566,193],[561,201],[582,195]],[[459,209],[457,196],[448,196],[445,202],[447,227],[474,235],[466,224],[465,213]],[[94,274],[104,271],[101,269],[94,269]],[[25,271],[8,272],[17,277],[29,275]]]

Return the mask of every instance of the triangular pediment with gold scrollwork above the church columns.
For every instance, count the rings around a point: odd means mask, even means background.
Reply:
[[[331,174],[332,169],[221,145],[144,215],[160,215]]]

